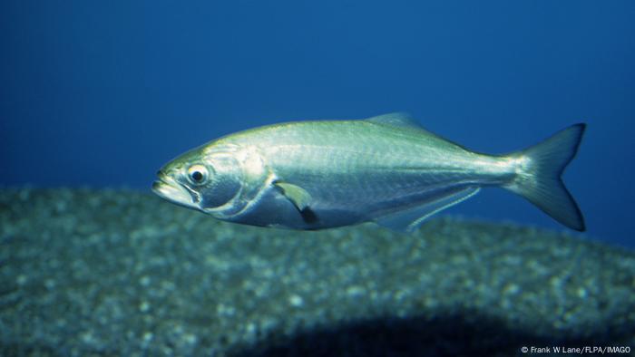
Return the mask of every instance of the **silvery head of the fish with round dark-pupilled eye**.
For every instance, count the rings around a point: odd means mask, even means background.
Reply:
[[[243,178],[232,148],[190,150],[168,162],[157,176],[152,190],[174,204],[210,214],[239,205]]]

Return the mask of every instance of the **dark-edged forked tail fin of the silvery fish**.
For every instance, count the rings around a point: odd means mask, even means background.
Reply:
[[[513,182],[505,188],[526,198],[566,227],[583,232],[584,217],[564,187],[562,172],[575,157],[586,124],[575,124],[529,149],[517,152],[527,159]]]

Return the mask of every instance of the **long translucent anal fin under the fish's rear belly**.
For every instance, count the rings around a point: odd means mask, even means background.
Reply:
[[[459,191],[448,193],[435,200],[425,202],[425,204],[397,211],[395,213],[379,217],[376,224],[397,231],[412,232],[428,217],[463,202],[467,198],[473,197],[481,188],[464,188]]]

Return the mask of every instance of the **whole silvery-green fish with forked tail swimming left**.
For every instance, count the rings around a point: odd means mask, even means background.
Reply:
[[[375,222],[413,232],[482,188],[504,188],[584,231],[562,173],[585,129],[574,124],[528,149],[488,155],[425,130],[405,113],[290,121],[187,151],[159,170],[152,190],[250,226],[317,230]]]

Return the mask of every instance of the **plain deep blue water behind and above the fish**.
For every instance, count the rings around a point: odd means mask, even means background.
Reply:
[[[0,184],[149,190],[184,150],[277,121],[409,111],[502,153],[589,124],[565,174],[633,239],[635,2],[5,1]],[[487,189],[448,211],[566,229]]]

